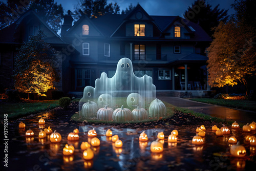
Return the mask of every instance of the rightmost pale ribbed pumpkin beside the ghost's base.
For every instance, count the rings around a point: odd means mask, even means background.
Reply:
[[[166,107],[164,103],[159,99],[155,99],[150,103],[150,108],[148,111],[150,116],[153,118],[159,118],[166,115]]]

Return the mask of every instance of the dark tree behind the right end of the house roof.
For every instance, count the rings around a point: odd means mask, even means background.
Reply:
[[[220,10],[219,5],[212,9],[212,6],[206,3],[204,0],[197,0],[183,14],[183,17],[190,22],[199,24],[204,31],[212,36],[214,31],[212,28],[215,28],[219,23],[227,22],[228,10]]]

